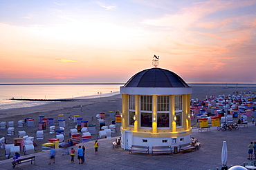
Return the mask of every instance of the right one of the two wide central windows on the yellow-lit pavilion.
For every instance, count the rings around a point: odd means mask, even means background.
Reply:
[[[170,96],[157,96],[157,127],[170,127]]]

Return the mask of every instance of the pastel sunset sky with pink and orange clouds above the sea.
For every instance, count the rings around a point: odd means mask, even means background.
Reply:
[[[256,83],[255,0],[0,0],[0,83]]]

